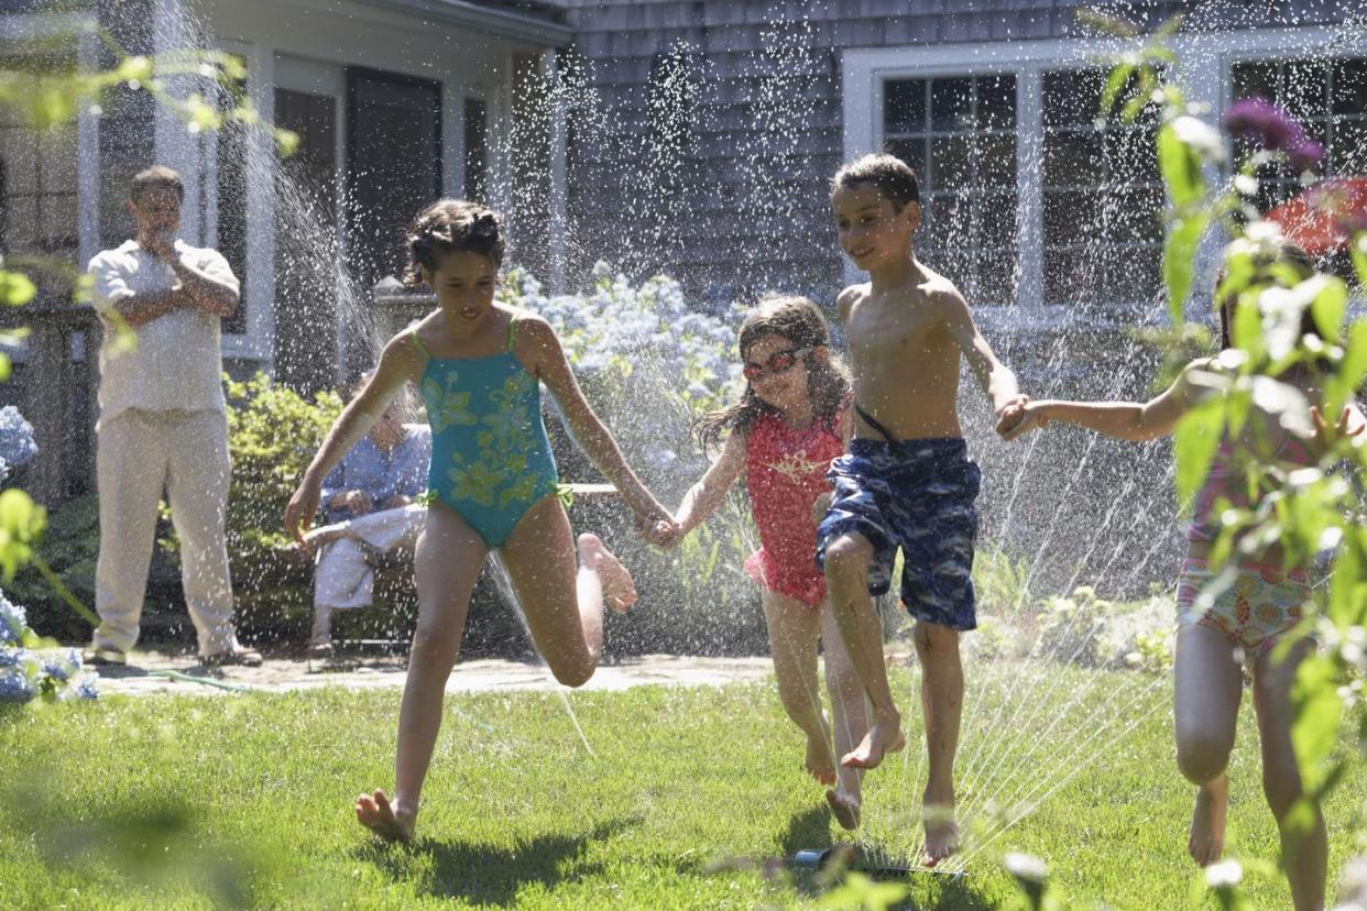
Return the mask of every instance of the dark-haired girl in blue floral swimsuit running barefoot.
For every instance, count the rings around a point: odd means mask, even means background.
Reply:
[[[465,201],[428,206],[409,231],[405,281],[427,284],[439,309],[394,336],[370,381],[346,407],[290,500],[297,539],[313,520],[332,466],[411,382],[432,423],[432,496],[414,576],[418,624],[399,710],[394,799],[361,795],[357,818],[390,839],[411,839],[418,795],[442,725],[470,593],[498,549],[536,647],[560,683],[585,683],[603,649],[603,602],[636,601],[632,576],[592,534],[577,542],[556,497],[555,460],[541,422],[541,384],[555,396],[585,455],[621,492],[653,541],[670,514],[622,458],[580,392],[560,341],[541,317],[493,300],[503,261],[499,216]]]

